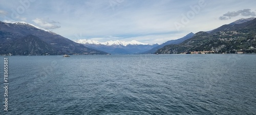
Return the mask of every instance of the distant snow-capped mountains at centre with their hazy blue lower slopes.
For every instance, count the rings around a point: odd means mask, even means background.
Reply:
[[[110,54],[140,54],[156,47],[159,44],[142,43],[136,40],[132,41],[106,41],[99,42],[90,39],[79,39],[75,42],[84,44],[86,47],[104,51]]]

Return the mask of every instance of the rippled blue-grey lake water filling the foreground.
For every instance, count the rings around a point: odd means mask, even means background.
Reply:
[[[256,55],[8,58],[6,114],[256,114]]]

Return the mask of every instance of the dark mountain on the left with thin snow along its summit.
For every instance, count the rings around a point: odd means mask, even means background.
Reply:
[[[108,54],[26,22],[0,21],[0,55]]]

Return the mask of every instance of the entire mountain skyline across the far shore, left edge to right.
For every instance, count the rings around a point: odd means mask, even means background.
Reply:
[[[239,19],[208,32],[162,44],[136,40],[75,42],[26,22],[0,21],[0,55],[256,53],[256,19]]]

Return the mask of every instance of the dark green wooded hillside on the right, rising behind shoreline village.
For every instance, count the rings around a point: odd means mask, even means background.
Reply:
[[[198,32],[180,44],[169,44],[155,54],[256,53],[256,19],[239,19],[209,32]]]

